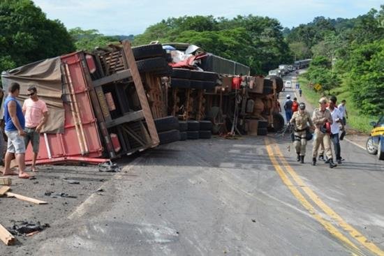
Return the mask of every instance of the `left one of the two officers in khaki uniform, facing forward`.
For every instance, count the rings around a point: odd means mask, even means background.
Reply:
[[[297,162],[304,163],[305,148],[307,146],[307,128],[315,128],[311,115],[305,111],[305,103],[299,104],[299,111],[293,113],[290,123],[295,127],[295,149],[297,153]],[[308,126],[309,123],[309,126]]]

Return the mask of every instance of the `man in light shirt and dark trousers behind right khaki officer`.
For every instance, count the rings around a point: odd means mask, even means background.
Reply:
[[[330,105],[327,107],[330,110],[332,115],[333,123],[331,124],[331,140],[334,146],[334,154],[336,155],[336,160],[338,164],[341,164],[341,148],[340,148],[340,123],[343,121],[343,116],[338,107],[335,107],[336,100],[330,100]]]

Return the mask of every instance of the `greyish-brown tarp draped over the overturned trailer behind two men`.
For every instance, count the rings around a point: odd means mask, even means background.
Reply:
[[[64,105],[63,100],[61,100],[63,85],[60,64],[60,58],[55,57],[1,73],[5,96],[8,93],[8,86],[12,82],[20,84],[20,96],[17,98],[20,105],[29,97],[27,96],[27,89],[30,84],[36,84],[38,97],[47,104],[48,108],[48,119],[42,129],[43,133],[64,133]],[[2,116],[3,105],[1,105],[1,118]]]

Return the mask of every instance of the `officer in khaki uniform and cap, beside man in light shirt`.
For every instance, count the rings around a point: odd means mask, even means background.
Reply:
[[[316,156],[318,154],[318,146],[320,142],[324,144],[325,155],[328,158],[330,168],[336,167],[332,159],[332,150],[331,150],[331,140],[330,132],[327,130],[327,126],[332,125],[332,115],[330,110],[327,110],[327,98],[320,98],[318,101],[319,107],[316,110],[313,110],[312,121],[316,126],[315,129],[315,140],[313,140],[313,149],[312,149],[312,165],[316,165]]]

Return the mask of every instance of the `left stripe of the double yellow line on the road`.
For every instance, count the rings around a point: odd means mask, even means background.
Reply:
[[[315,218],[318,221],[318,223],[323,225],[323,227],[328,232],[330,232],[330,234],[332,234],[332,236],[339,239],[342,242],[343,246],[348,248],[348,250],[350,250],[351,253],[357,254],[357,255],[363,255],[363,253],[360,251],[359,248],[357,248],[357,246],[355,246],[354,243],[352,243],[346,236],[344,236],[344,234],[339,232],[339,230],[336,227],[334,227],[334,225],[332,225],[332,223],[325,220],[323,217],[320,216],[320,214],[317,213],[316,209],[312,206],[312,204],[310,202],[308,202],[308,200],[304,197],[304,195],[302,195],[302,193],[300,193],[300,191],[296,188],[297,186],[295,186],[292,183],[292,181],[290,181],[286,172],[283,171],[283,169],[281,168],[281,166],[277,162],[277,160],[274,156],[274,152],[272,151],[272,147],[269,146],[269,144],[270,144],[269,139],[265,140],[265,144],[267,147],[269,159],[271,160],[272,165],[274,166],[276,172],[279,174],[281,180],[288,187],[290,192],[299,200],[300,204],[302,204],[302,206],[304,206],[304,208],[307,209],[307,211],[309,211],[311,216],[313,216],[313,218]]]

